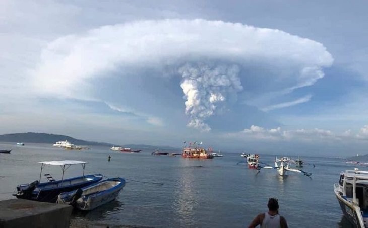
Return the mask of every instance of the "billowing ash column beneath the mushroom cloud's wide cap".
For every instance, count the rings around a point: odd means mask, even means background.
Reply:
[[[190,116],[187,126],[209,131],[206,118],[223,106],[228,97],[236,97],[243,88],[236,65],[186,64],[179,68],[183,81],[181,88],[187,100],[186,114]]]

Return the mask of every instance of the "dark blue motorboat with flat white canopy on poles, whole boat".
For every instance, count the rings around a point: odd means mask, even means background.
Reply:
[[[86,163],[81,161],[64,160],[64,161],[46,161],[41,163],[41,171],[39,180],[30,184],[21,184],[17,186],[17,193],[13,194],[20,199],[30,199],[42,202],[55,203],[57,195],[62,192],[73,191],[85,186],[94,184],[102,180],[101,174],[84,175]],[[80,164],[83,169],[83,175],[64,179],[65,171],[72,165]],[[50,174],[45,174],[47,181],[41,183],[42,170],[45,165],[57,165],[62,168],[62,179],[55,180]]]

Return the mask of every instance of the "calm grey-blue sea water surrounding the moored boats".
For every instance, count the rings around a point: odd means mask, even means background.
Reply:
[[[151,156],[152,151],[120,153],[108,147],[89,150],[63,150],[48,144],[0,143],[11,154],[0,154],[0,200],[12,199],[17,184],[38,180],[39,161],[80,160],[88,162],[86,174],[127,178],[118,198],[94,211],[76,213],[73,222],[84,224],[131,225],[143,227],[246,227],[267,211],[270,197],[278,198],[280,214],[289,227],[350,227],[343,218],[333,193],[342,170],[354,168],[341,159],[303,157],[315,164],[298,173],[280,177],[276,170],[250,170],[239,154],[208,160],[180,156]],[[111,155],[111,161],[107,161]],[[274,156],[261,155],[273,164]],[[47,166],[44,173],[61,177],[58,166]],[[79,176],[82,168],[72,166],[67,177]],[[256,175],[257,174],[257,175]],[[44,177],[42,177],[44,179]],[[163,183],[163,185],[131,180]]]

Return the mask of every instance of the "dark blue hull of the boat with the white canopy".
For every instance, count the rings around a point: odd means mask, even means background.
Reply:
[[[86,181],[82,181],[79,183],[78,182],[73,183],[78,179],[81,179],[81,180],[86,179]],[[35,201],[41,201],[41,202],[55,203],[57,200],[58,194],[62,192],[69,192],[69,191],[73,191],[79,188],[83,188],[88,185],[99,182],[100,180],[102,180],[102,175],[95,174],[95,175],[85,175],[84,177],[81,176],[81,177],[69,178],[63,181],[57,180],[57,181],[52,181],[52,182],[44,182],[44,183],[38,184],[30,195],[21,194],[22,190],[26,190],[29,185],[18,185],[17,186],[18,193],[13,194],[13,195],[20,199],[29,199],[29,200],[35,200]],[[65,185],[65,183],[67,183],[67,185]],[[68,185],[68,183],[71,183],[71,184]]]

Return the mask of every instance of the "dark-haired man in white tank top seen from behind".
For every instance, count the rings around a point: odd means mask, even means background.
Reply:
[[[261,225],[261,228],[287,228],[286,219],[279,215],[279,203],[277,199],[268,200],[268,212],[257,215],[248,228]]]

